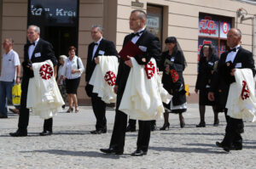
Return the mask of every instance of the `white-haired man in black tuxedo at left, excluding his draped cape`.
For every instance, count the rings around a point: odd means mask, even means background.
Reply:
[[[19,128],[16,132],[9,133],[12,137],[27,136],[29,110],[26,108],[26,98],[29,80],[34,76],[32,64],[44,62],[45,60],[50,59],[54,66],[57,65],[57,59],[55,58],[53,47],[49,42],[44,41],[40,37],[40,28],[37,25],[28,26],[26,35],[28,42],[24,46],[24,61],[22,62],[23,78],[21,82],[22,93],[20,100]],[[44,131],[40,132],[40,135],[51,135],[52,124],[52,118],[44,120]]]

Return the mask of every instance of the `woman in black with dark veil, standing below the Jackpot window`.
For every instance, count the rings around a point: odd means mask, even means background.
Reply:
[[[195,84],[195,93],[199,91],[199,111],[200,111],[200,123],[196,127],[206,127],[205,112],[206,105],[212,105],[214,112],[213,126],[218,126],[218,111],[214,102],[208,99],[208,91],[211,84],[211,78],[213,73],[213,66],[218,61],[218,56],[214,54],[214,48],[211,44],[205,44],[201,48],[200,61],[198,66],[198,76]]]

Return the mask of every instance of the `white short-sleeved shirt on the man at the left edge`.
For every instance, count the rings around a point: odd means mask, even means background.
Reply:
[[[19,54],[13,49],[3,54],[0,81],[13,82],[16,78],[16,66],[20,65]]]

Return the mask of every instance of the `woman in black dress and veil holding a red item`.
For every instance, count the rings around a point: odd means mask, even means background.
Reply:
[[[169,128],[169,113],[179,115],[180,127],[185,126],[183,112],[187,110],[186,95],[184,90],[183,70],[186,67],[186,60],[181,49],[178,49],[176,37],[166,38],[166,48],[168,49],[161,56],[160,70],[163,71],[162,83],[166,91],[172,94],[172,101],[164,104],[166,112],[164,114],[165,124],[160,130]]]

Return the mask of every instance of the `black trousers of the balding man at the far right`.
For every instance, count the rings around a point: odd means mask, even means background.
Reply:
[[[234,119],[229,116],[222,144],[229,148],[232,146],[235,146],[235,148],[242,148],[241,133],[244,131],[243,128],[244,125],[241,119]]]

